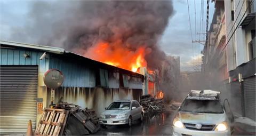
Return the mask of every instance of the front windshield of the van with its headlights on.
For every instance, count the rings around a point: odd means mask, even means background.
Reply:
[[[223,113],[220,101],[217,100],[189,100],[183,101],[180,110],[192,113]]]

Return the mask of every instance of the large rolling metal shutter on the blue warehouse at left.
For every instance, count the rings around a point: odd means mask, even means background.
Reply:
[[[26,133],[36,126],[37,66],[0,67],[0,134]]]

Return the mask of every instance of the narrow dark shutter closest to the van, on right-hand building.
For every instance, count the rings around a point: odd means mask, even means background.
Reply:
[[[230,106],[233,111],[242,115],[241,91],[238,81],[231,82],[231,101]]]

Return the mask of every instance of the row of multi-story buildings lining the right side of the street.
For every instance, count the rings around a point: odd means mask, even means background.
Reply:
[[[210,87],[218,84],[227,98],[232,98],[231,108],[236,113],[255,121],[256,2],[212,2],[215,11],[202,51],[202,71],[210,77]]]

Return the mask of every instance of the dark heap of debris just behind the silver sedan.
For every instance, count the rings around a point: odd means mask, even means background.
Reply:
[[[157,99],[157,98],[152,97],[152,95],[150,95],[150,94],[142,95],[140,97],[140,104],[141,104],[141,106],[143,107],[143,110],[146,113],[153,113],[154,112],[154,110],[149,109],[149,105],[157,106],[158,108],[161,108],[161,111],[165,110],[164,103],[163,103],[163,98]]]

